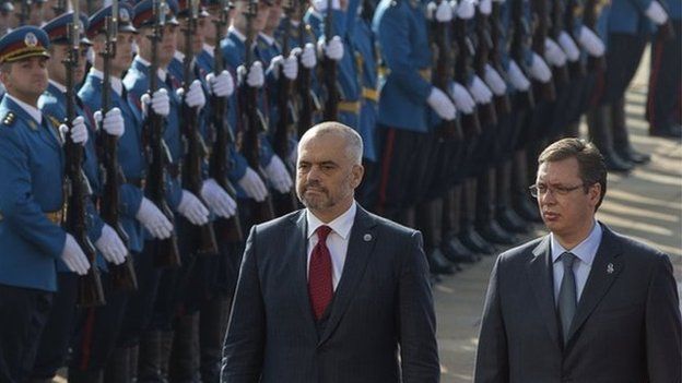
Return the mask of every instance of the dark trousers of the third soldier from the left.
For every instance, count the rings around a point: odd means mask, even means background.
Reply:
[[[116,289],[108,273],[102,273],[102,286],[106,304],[79,310],[70,370],[104,370],[117,346],[131,292]]]

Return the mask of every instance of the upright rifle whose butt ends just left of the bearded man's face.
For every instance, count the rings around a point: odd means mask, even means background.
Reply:
[[[282,39],[282,57],[289,58],[291,49],[289,46],[289,36],[291,35],[291,16],[294,11],[293,0],[283,0],[282,9],[284,10],[284,17],[281,21],[283,28]],[[280,71],[281,72],[281,71]],[[284,73],[280,73],[278,79],[278,112],[279,119],[274,129],[273,149],[274,153],[280,156],[286,164],[286,168],[290,175],[295,175],[294,169],[289,165],[286,158],[291,153],[290,136],[292,134],[292,124],[295,121],[293,116],[291,99],[293,97],[293,81],[286,79]],[[298,208],[298,199],[296,196],[295,188],[291,188],[286,193],[277,193],[273,196],[274,207],[278,215],[284,215]]]

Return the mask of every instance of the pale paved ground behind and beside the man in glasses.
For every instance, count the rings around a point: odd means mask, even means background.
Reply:
[[[647,84],[648,51],[627,93],[626,113],[634,146],[650,153],[652,160],[627,176],[609,175],[598,219],[670,254],[682,294],[682,146],[679,142],[647,135],[644,120]],[[538,227],[536,236],[543,234],[543,228]],[[444,383],[472,381],[477,335],[493,262],[494,256],[485,258],[436,287]]]

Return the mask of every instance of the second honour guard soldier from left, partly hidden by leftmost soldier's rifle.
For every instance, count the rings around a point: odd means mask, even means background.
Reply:
[[[50,38],[49,52],[51,58],[47,65],[49,85],[45,94],[43,94],[38,100],[38,106],[43,110],[43,113],[54,121],[55,124],[59,123],[59,121],[63,121],[67,117],[67,71],[71,69],[67,68],[63,62],[70,49],[72,49],[69,39],[70,36],[68,34],[68,25],[71,23],[73,23],[73,12],[64,13],[43,26],[43,31],[45,31]],[[81,15],[81,25],[79,27],[79,31],[83,31],[87,27],[87,17],[84,15]],[[87,40],[83,34],[79,52],[81,58],[73,72],[74,84],[81,83],[84,77],[84,56],[90,46],[90,40]],[[95,137],[96,132],[94,121],[92,120],[93,113],[90,109],[84,107],[83,103],[78,99],[78,97],[77,115],[82,116],[81,118],[84,117],[84,123],[89,127],[90,136]],[[107,133],[121,135],[124,131],[122,122],[120,115],[113,112],[106,116],[104,123],[101,124]],[[102,220],[95,207],[95,201],[98,200],[102,192],[99,163],[97,160],[95,141],[97,140],[89,140],[85,144],[86,154],[83,163],[83,170],[92,189],[92,203],[89,204],[89,237],[107,262],[120,264],[124,262],[128,249],[116,231]],[[98,266],[106,270],[101,259],[98,260]],[[59,262],[57,264],[57,270],[59,272],[59,290],[55,296],[55,308],[43,332],[40,346],[33,369],[33,378],[38,380],[51,379],[57,373],[57,370],[60,369],[67,360],[68,347],[72,339],[73,331],[78,328],[77,332],[79,334],[81,331],[85,331],[84,326],[78,325],[79,321],[77,320],[75,303],[78,276]],[[84,309],[84,311],[87,310],[91,309]],[[83,381],[81,378],[82,376],[79,376],[77,372],[70,375],[70,380],[74,382],[79,381],[79,379]],[[84,381],[93,380],[85,379]]]

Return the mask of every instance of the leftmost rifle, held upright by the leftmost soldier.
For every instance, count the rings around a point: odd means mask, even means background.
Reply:
[[[78,5],[78,0],[74,0]],[[73,22],[68,24],[68,34],[70,49],[63,64],[67,68],[67,116],[63,123],[71,127],[77,116],[75,112],[75,79],[73,73],[78,68],[78,60],[81,51],[81,28],[80,12],[78,8],[73,12]],[[71,127],[72,128],[72,127]],[[64,152],[67,157],[67,202],[69,210],[67,213],[66,230],[77,240],[87,261],[90,270],[87,274],[79,277],[78,285],[78,304],[81,307],[97,307],[105,303],[104,290],[102,289],[102,280],[99,278],[99,270],[97,268],[97,252],[92,242],[87,238],[87,225],[85,223],[87,212],[85,211],[86,200],[92,194],[87,179],[83,173],[83,145],[77,144],[67,134],[64,142]]]

